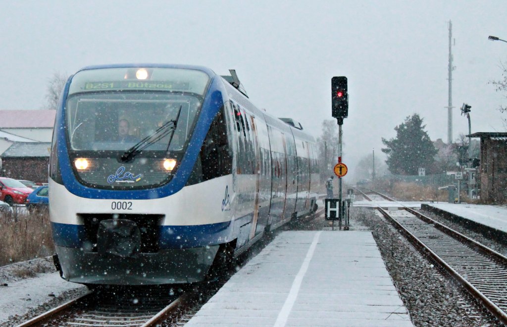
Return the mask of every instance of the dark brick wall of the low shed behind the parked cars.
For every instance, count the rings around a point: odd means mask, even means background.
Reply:
[[[23,179],[35,183],[48,182],[49,157],[2,158],[0,176]]]

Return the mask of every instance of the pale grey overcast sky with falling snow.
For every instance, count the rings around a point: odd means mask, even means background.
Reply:
[[[181,63],[236,69],[250,100],[320,135],[331,77],[349,81],[344,162],[352,172],[381,137],[419,113],[447,142],[448,21],[453,138],[505,131],[507,101],[488,81],[507,61],[507,1],[7,1],[0,10],[0,110],[41,109],[50,77],[94,64]],[[503,117],[506,117],[504,114]]]

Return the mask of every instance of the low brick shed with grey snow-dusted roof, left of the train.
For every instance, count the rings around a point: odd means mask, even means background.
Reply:
[[[47,183],[50,149],[50,142],[13,142],[1,154],[0,176]]]

